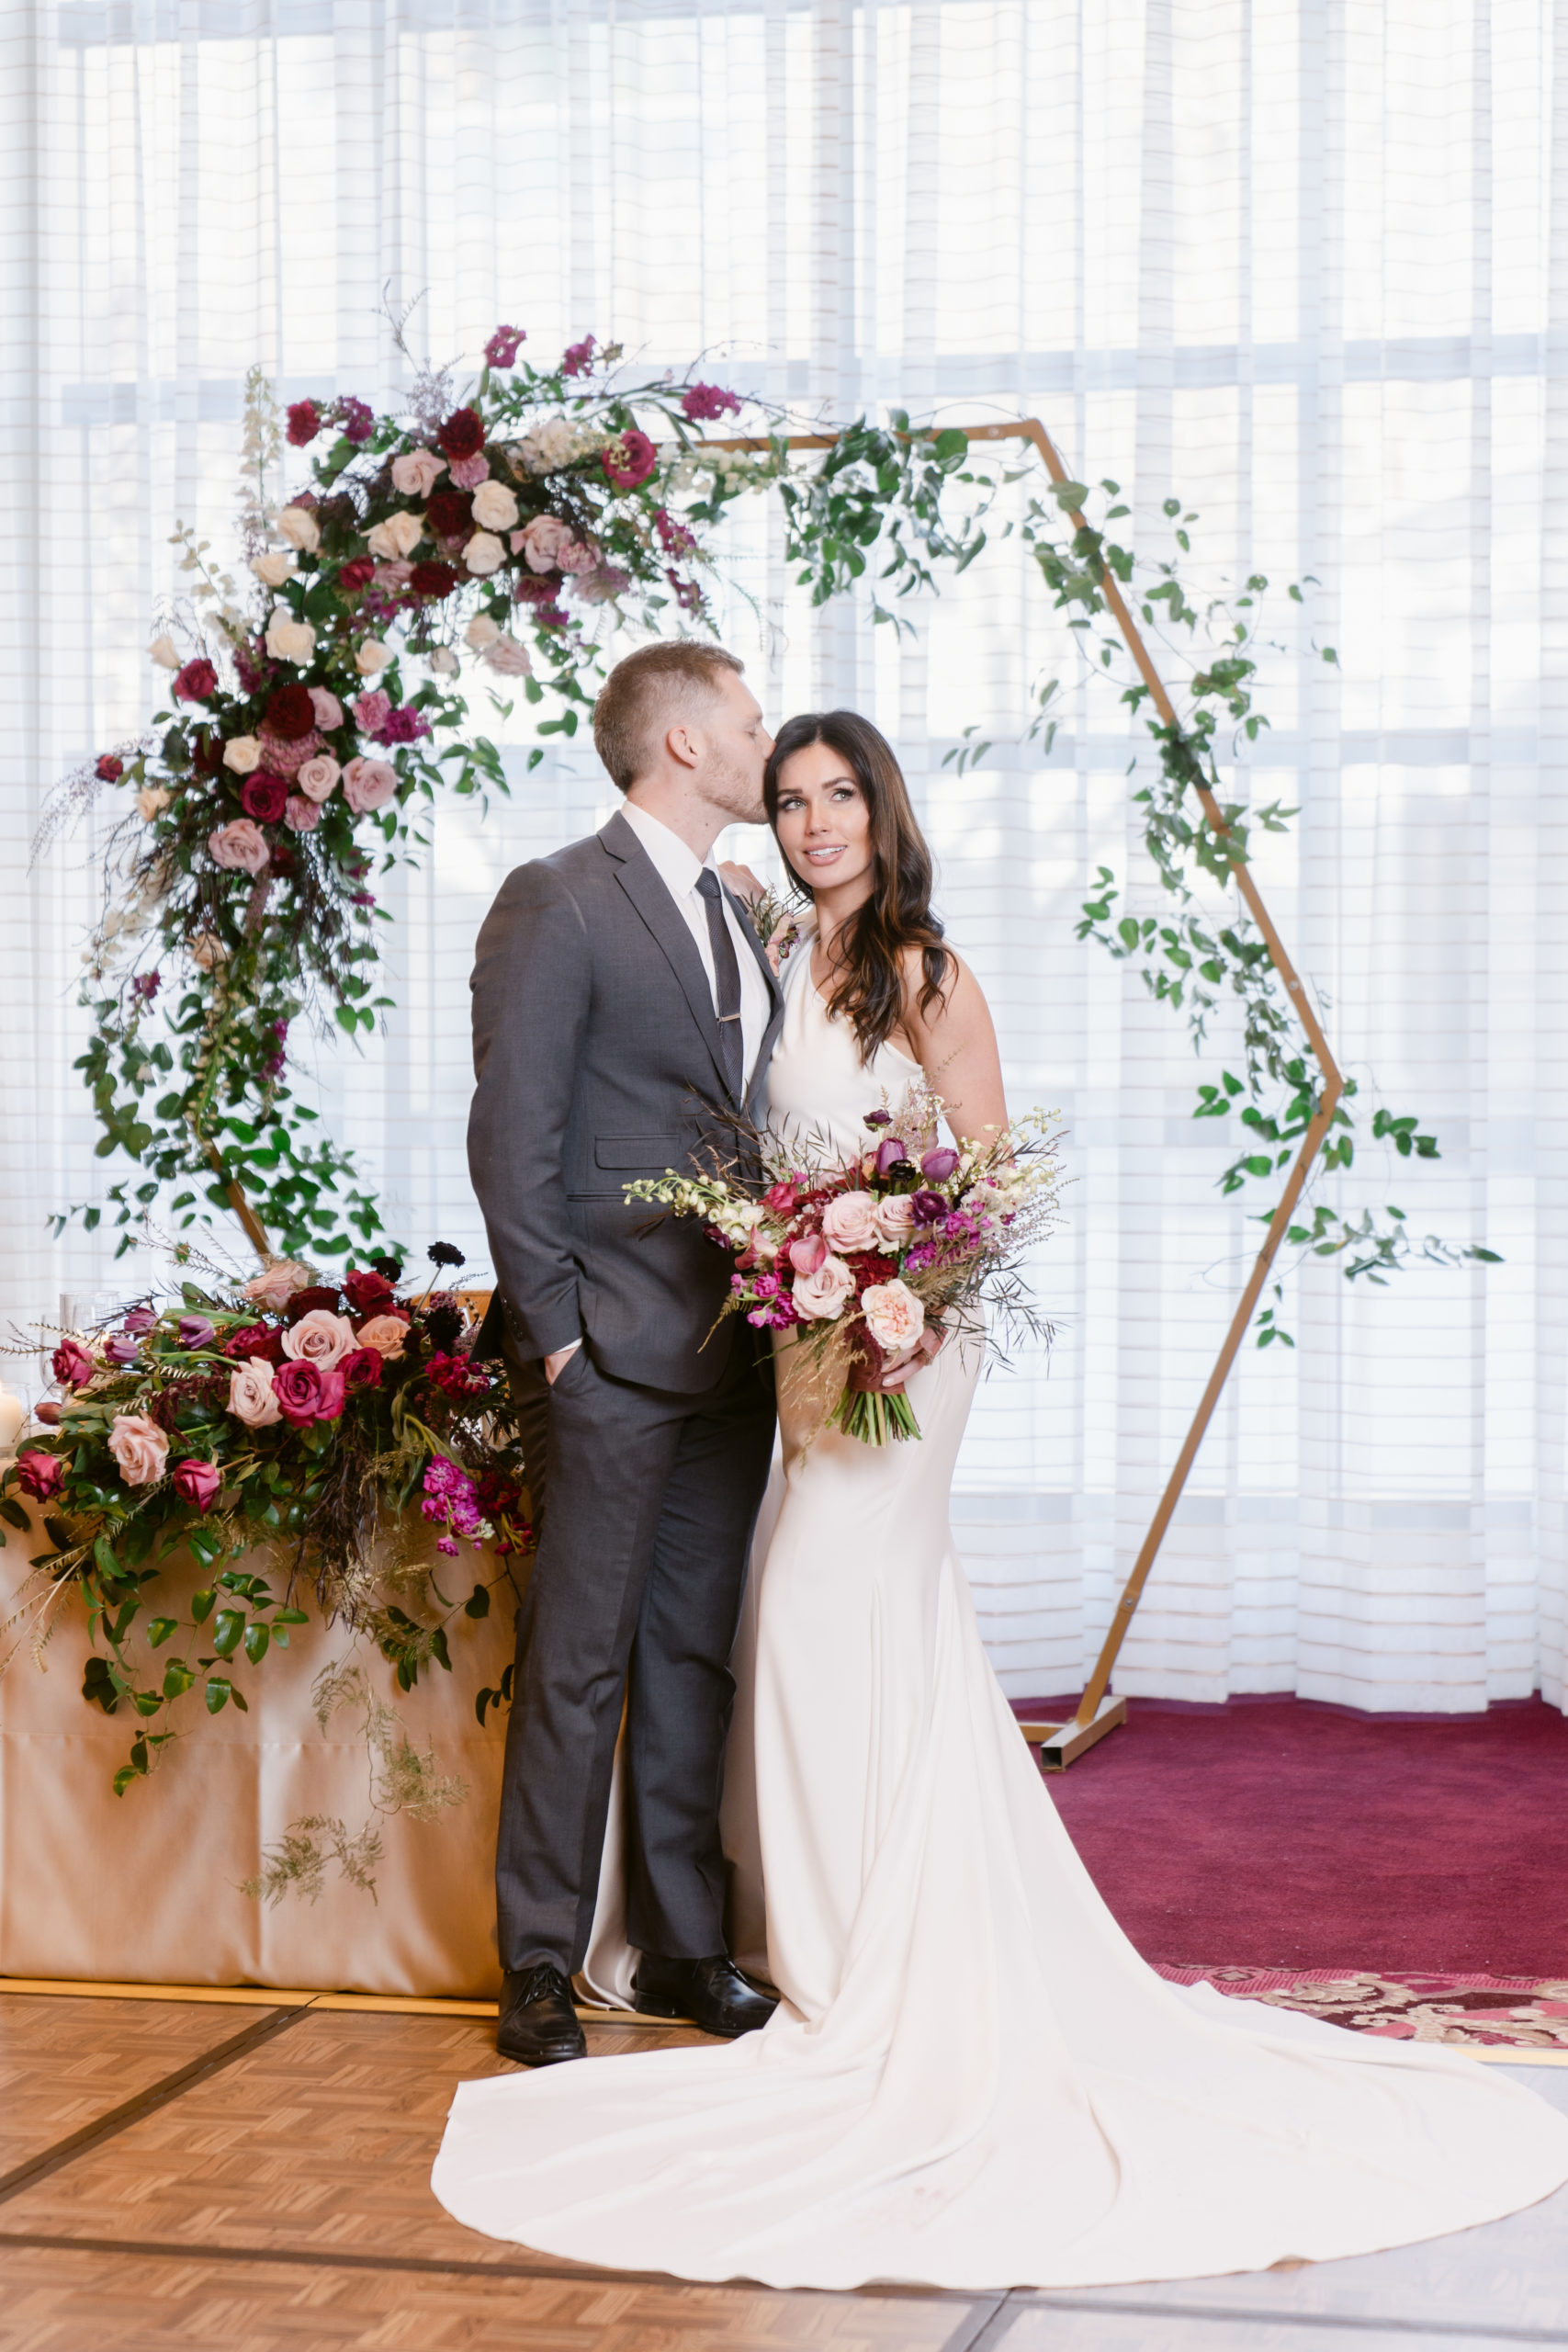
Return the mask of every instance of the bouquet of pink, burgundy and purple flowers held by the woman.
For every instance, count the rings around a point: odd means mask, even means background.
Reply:
[[[910,1399],[882,1383],[929,1362],[952,1334],[983,1338],[985,1308],[1044,1334],[1018,1265],[1056,1223],[1048,1115],[1032,1110],[954,1148],[936,1141],[940,1110],[924,1084],[884,1101],[867,1110],[870,1141],[849,1162],[745,1129],[762,1188],[719,1162],[625,1188],[628,1200],[698,1216],[708,1240],[733,1251],[722,1317],[797,1329],[830,1399],[825,1425],[872,1446],[919,1437]]]

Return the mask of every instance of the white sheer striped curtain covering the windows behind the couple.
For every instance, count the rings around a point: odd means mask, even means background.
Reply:
[[[414,339],[505,318],[849,416],[1041,414],[1145,543],[1178,489],[1204,564],[1316,574],[1239,797],[1300,804],[1269,903],[1347,1068],[1436,1127],[1366,1143],[1347,1211],[1486,1240],[1488,1275],[1288,1282],[1248,1350],[1119,1686],[1479,1708],[1563,1682],[1568,1065],[1568,21],[1547,0],[68,0],[0,12],[7,858],[5,1294],[118,1279],[45,1216],[108,1181],[71,1070],[94,837],[33,875],[49,779],[150,708],[167,534],[230,517],[242,376],[386,393]],[[731,640],[773,713],[853,701],[898,739],[940,906],[1016,1103],[1077,1176],[1039,1291],[1051,1359],[983,1392],[961,1541],[1016,1693],[1074,1689],[1180,1444],[1248,1211],[1190,1120],[1178,1023],[1072,924],[1133,854],[1110,691],[1016,543],[900,647],[790,600],[778,522]],[[1018,741],[1060,673],[1048,757]],[[978,771],[943,767],[978,722]],[[1135,779],[1133,779],[1135,781]],[[327,1105],[416,1249],[482,1261],[463,1174],[468,957],[517,858],[599,823],[583,753],[480,823],[444,811],[397,896],[397,1014]],[[757,844],[741,844],[752,851]]]

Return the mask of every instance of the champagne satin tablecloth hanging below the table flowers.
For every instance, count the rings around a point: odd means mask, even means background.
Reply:
[[[47,1548],[7,1529],[0,1552],[0,1623],[16,1611],[28,1557]],[[284,1578],[266,1555],[240,1566]],[[480,1571],[487,1578],[491,1564]],[[162,1569],[160,1597],[183,1602],[207,1583],[195,1564]],[[470,1590],[463,1562],[447,1590]],[[200,1686],[174,1710],[186,1736],[160,1750],[148,1780],[115,1797],[139,1717],[110,1717],[82,1700],[87,1611],[78,1595],[56,1613],[47,1672],[24,1639],[0,1679],[0,1976],[266,1985],[331,1992],[494,1997],[494,1844],[501,1799],[503,1717],[475,1719],[475,1693],[498,1684],[512,1653],[508,1588],[491,1613],[449,1628],[451,1672],[428,1668],[400,1691],[371,1642],[353,1644],[369,1686],[393,1703],[416,1748],[433,1745],[442,1773],[468,1795],[433,1820],[371,1816],[371,1764],[350,1705],[315,1722],[310,1684],[350,1651],[343,1625],[294,1625],[287,1651],[259,1668],[235,1665],[249,1715],[202,1710]],[[158,1613],[148,1609],[148,1616]],[[24,1632],[7,1623],[5,1656]],[[165,1656],[165,1653],[155,1653]],[[162,1717],[146,1729],[158,1731]],[[374,1896],[336,1863],[315,1903],[299,1891],[261,1903],[240,1882],[261,1870],[263,1846],[303,1816],[336,1816],[355,1835],[376,1818],[383,1860]]]

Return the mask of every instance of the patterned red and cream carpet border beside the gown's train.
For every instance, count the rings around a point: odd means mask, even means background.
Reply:
[[[1171,1985],[1208,1980],[1234,1999],[1302,2009],[1394,2042],[1568,2051],[1568,1978],[1373,1976],[1345,1969],[1166,1969]]]

